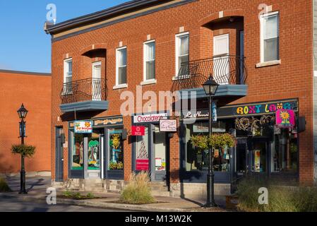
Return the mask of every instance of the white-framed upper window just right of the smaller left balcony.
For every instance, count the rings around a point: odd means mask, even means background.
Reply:
[[[126,47],[116,49],[116,86],[126,86]]]

